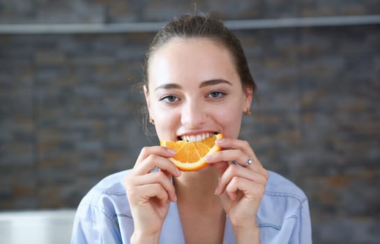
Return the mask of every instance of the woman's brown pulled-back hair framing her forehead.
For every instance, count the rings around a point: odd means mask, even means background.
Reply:
[[[235,61],[236,70],[243,87],[250,87],[252,93],[256,89],[253,77],[245,58],[240,40],[232,33],[225,24],[209,15],[184,15],[168,22],[158,31],[149,46],[145,56],[143,83],[148,89],[149,83],[149,60],[155,50],[168,43],[172,38],[209,38],[222,44],[231,54]]]

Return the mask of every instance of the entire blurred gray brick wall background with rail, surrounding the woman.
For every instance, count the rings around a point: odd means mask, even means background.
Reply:
[[[195,3],[241,38],[258,86],[241,138],[305,191],[314,243],[379,243],[378,0],[0,0],[2,236],[8,213],[70,224],[93,185],[158,144],[142,128],[144,53]]]

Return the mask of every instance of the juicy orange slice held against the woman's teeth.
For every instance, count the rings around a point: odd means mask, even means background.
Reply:
[[[215,145],[216,139],[223,138],[222,134],[213,135],[200,142],[187,142],[187,141],[160,141],[161,146],[172,148],[176,151],[173,158],[169,158],[178,169],[181,171],[197,171],[203,169],[208,164],[206,156],[211,155],[222,148]]]

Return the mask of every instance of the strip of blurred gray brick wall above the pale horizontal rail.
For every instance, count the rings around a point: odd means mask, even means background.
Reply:
[[[156,22],[195,9],[223,20],[377,15],[379,7],[377,0],[1,0],[0,23]]]

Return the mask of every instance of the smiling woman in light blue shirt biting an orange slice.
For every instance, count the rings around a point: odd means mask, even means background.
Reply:
[[[162,146],[82,199],[72,243],[311,243],[302,190],[268,172],[238,138],[256,86],[240,41],[222,22],[169,22],[146,54],[144,93],[161,140],[222,133],[202,171],[181,172]]]

